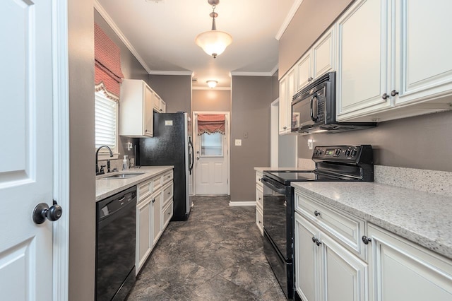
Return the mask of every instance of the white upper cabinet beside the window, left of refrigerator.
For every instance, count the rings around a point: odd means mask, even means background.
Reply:
[[[153,136],[153,90],[144,81],[124,79],[121,83],[119,135]]]

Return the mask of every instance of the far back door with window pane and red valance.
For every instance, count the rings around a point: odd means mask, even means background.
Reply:
[[[214,115],[222,117],[215,120]],[[204,122],[205,120],[207,122]],[[194,114],[195,175],[198,195],[229,194],[228,121],[228,112]]]

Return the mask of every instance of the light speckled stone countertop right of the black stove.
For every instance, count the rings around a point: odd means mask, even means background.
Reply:
[[[452,259],[452,197],[371,182],[292,187]]]

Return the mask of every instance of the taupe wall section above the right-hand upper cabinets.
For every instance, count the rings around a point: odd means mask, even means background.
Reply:
[[[304,0],[279,42],[279,78],[354,0]]]

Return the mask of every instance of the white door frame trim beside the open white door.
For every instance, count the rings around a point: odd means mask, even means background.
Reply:
[[[69,300],[69,48],[68,2],[52,0],[54,200],[63,215],[53,223],[52,300]],[[94,85],[93,85],[94,89]]]

